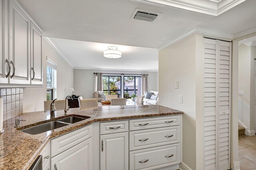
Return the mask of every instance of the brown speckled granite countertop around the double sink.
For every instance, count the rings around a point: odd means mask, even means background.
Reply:
[[[66,116],[64,116],[64,110],[59,110],[56,111],[57,118],[53,119],[50,119],[49,111],[22,113],[4,121],[5,132],[0,135],[0,170],[28,170],[51,138],[92,122],[176,114],[183,114],[183,112],[164,106],[151,105],[74,108],[68,110],[68,115]],[[70,115],[89,116],[90,118],[38,135],[30,135],[19,131],[62,117],[69,117]],[[22,127],[17,129],[14,128],[15,119],[19,118],[26,121],[22,121]]]

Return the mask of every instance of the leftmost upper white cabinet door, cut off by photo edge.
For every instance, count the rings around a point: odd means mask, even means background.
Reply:
[[[7,5],[7,1],[0,0],[0,83],[8,83],[8,78],[6,78],[6,74],[8,73],[5,72],[6,69],[9,69],[8,65],[6,62],[6,59],[8,59],[8,41],[6,41],[5,35],[7,34],[8,30],[5,30],[5,23],[8,24],[7,22],[7,8],[5,6]],[[6,5],[5,5],[6,4]],[[7,27],[6,27],[7,28]],[[6,42],[6,46],[5,46]],[[5,48],[6,47],[6,48]],[[6,51],[5,51],[6,49]],[[6,66],[5,66],[6,63]]]

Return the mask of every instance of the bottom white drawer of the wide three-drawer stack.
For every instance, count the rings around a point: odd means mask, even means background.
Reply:
[[[130,152],[130,170],[152,170],[180,163],[180,144]]]

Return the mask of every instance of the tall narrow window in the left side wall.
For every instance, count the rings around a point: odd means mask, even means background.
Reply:
[[[47,100],[53,100],[56,81],[56,65],[47,61]]]

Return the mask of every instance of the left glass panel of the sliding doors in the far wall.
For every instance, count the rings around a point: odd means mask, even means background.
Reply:
[[[121,76],[103,76],[103,91],[105,95],[115,95],[122,93]]]

